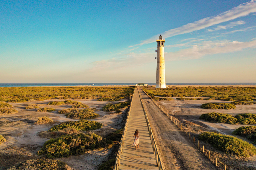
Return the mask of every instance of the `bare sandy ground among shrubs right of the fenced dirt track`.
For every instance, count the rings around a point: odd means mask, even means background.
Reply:
[[[171,97],[175,99],[176,97]],[[202,98],[202,97],[201,97]],[[181,120],[181,122],[192,122],[194,123],[194,129],[196,129],[195,133],[199,133],[200,131],[217,131],[222,134],[232,135],[232,132],[242,126],[252,126],[252,125],[229,125],[229,124],[220,124],[220,123],[209,123],[203,120],[200,120],[199,117],[202,114],[210,113],[210,112],[219,112],[219,113],[226,113],[231,115],[238,115],[242,113],[252,113],[256,114],[256,105],[240,105],[236,106],[236,109],[231,110],[223,110],[223,109],[216,109],[216,110],[208,110],[202,109],[201,105],[204,103],[230,103],[230,101],[219,101],[219,100],[173,100],[173,101],[160,101],[160,104],[167,109],[169,112],[173,113],[176,118]],[[186,122],[187,123],[187,122]],[[200,128],[202,127],[202,128]],[[208,130],[207,130],[208,129]],[[241,136],[236,136],[243,140],[247,140]],[[254,145],[256,147],[256,145]],[[218,153],[216,153],[218,154]],[[256,169],[256,156],[250,157],[248,159],[241,159],[239,157],[236,158],[228,158],[234,162],[229,162],[231,164],[239,164],[237,168],[241,169]],[[234,160],[237,159],[237,160]],[[234,168],[234,167],[233,167]],[[231,168],[232,169],[232,168]],[[236,168],[234,168],[236,169]]]

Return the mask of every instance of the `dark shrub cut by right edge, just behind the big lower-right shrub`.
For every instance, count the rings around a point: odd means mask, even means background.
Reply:
[[[244,136],[256,144],[256,126],[246,126],[237,128],[232,132],[234,135]]]

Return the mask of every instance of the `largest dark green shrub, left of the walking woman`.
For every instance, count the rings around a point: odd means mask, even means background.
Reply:
[[[71,155],[81,155],[87,150],[111,147],[112,144],[111,140],[102,139],[101,136],[95,133],[68,134],[48,140],[37,154],[46,154],[47,158],[69,157]]]

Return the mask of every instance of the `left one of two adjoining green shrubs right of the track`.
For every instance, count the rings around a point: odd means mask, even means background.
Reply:
[[[199,119],[208,121],[208,122],[218,122],[218,123],[224,123],[224,124],[231,124],[231,125],[237,125],[237,119],[232,117],[229,114],[223,114],[223,113],[206,113],[202,114]]]

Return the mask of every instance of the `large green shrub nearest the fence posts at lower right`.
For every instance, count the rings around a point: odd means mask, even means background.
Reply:
[[[256,154],[256,148],[252,144],[237,137],[215,132],[203,132],[198,136],[198,139],[210,143],[214,148],[226,153],[234,153],[245,157]]]

